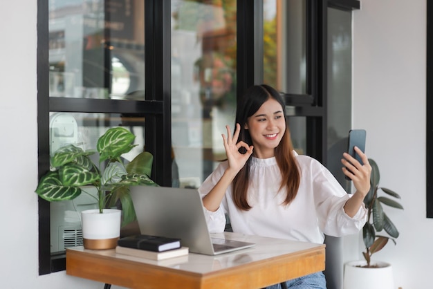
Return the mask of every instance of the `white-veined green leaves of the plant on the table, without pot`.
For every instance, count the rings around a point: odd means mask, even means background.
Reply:
[[[109,160],[109,165],[100,171],[99,166],[89,158],[95,151],[83,151],[74,145],[60,148],[51,165],[57,171],[49,171],[41,178],[36,193],[47,201],[63,201],[76,198],[82,192],[82,186],[93,185],[98,189],[98,205],[104,207],[106,192],[111,205],[118,201],[125,208],[122,225],[136,218],[131,197],[130,185],[158,186],[149,178],[151,175],[153,156],[149,152],[138,154],[128,166],[123,165],[120,156],[131,151],[136,137],[123,127],[108,129],[99,139],[97,150],[100,153],[100,164]],[[102,180],[101,180],[102,179]]]

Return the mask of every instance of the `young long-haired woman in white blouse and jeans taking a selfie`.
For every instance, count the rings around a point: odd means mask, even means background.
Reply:
[[[360,164],[343,154],[342,170],[356,187],[353,195],[347,194],[320,162],[293,150],[284,101],[274,88],[249,88],[237,106],[233,136],[226,128],[227,160],[199,188],[211,232],[223,232],[225,214],[233,232],[313,243],[323,243],[324,234],[355,234],[365,224],[362,201],[371,173],[367,156],[355,149]],[[287,285],[326,288],[326,281],[318,272]]]

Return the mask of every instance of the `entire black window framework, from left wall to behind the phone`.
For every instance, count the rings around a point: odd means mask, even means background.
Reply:
[[[286,94],[295,116],[307,118],[309,156],[326,163],[326,8],[359,9],[356,0],[306,0],[308,95]],[[145,1],[145,100],[90,100],[49,97],[48,0],[37,0],[38,176],[49,169],[51,111],[146,115],[145,143],[154,154],[152,178],[171,186],[170,0]],[[263,0],[237,1],[237,95],[263,80]],[[257,21],[259,20],[259,21]],[[149,76],[152,75],[152,76]],[[308,101],[306,101],[308,100]],[[291,115],[293,116],[293,115]],[[50,204],[39,198],[39,275],[65,270],[64,254],[50,253]]]

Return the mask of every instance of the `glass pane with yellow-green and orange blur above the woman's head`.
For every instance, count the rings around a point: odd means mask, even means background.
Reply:
[[[264,0],[264,82],[307,93],[305,0]]]

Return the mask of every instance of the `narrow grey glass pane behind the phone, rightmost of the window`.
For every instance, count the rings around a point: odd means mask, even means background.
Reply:
[[[352,34],[351,12],[328,8],[328,161],[327,167],[350,192],[341,170],[351,129]]]

